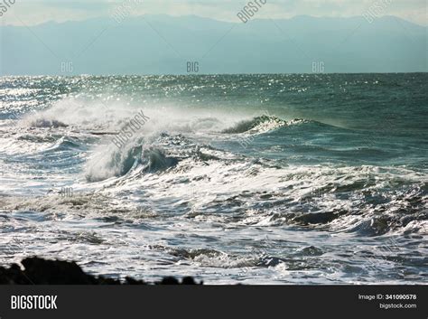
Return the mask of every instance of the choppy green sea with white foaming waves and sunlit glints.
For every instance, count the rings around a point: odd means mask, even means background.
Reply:
[[[427,80],[0,78],[0,264],[426,283]],[[141,110],[150,118],[117,147]]]

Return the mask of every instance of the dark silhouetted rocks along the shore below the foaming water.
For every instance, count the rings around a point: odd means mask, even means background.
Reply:
[[[124,282],[86,274],[75,262],[25,258],[22,270],[16,264],[9,268],[0,267],[0,285],[149,285],[143,280],[126,277]],[[202,283],[200,283],[201,285]],[[197,285],[192,277],[180,280],[165,277],[154,285]]]

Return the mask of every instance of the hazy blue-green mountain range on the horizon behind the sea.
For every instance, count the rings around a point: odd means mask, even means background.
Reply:
[[[144,15],[1,26],[0,74],[427,71],[426,37],[427,27],[394,16],[227,23]]]

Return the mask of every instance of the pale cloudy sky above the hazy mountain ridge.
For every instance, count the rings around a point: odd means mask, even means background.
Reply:
[[[8,2],[10,0],[0,0]],[[247,5],[241,0],[15,0],[0,17],[2,24],[33,25],[54,20],[84,20],[111,16],[117,6],[132,4],[133,15],[140,14],[195,14],[223,21],[236,21],[237,12]],[[260,0],[259,0],[260,1]],[[353,16],[362,15],[373,6],[381,8],[381,15],[395,15],[405,20],[427,25],[426,0],[267,0],[257,18],[290,18],[294,15]]]

